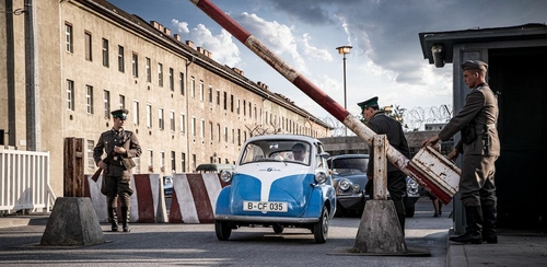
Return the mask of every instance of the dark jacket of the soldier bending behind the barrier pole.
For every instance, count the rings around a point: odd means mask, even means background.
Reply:
[[[407,158],[410,158],[410,149],[408,148],[408,142],[405,137],[405,132],[403,132],[403,126],[399,121],[395,120],[392,117],[385,115],[384,112],[377,112],[374,117],[371,118],[366,123],[366,126],[377,135],[386,135],[387,141],[389,144],[404,154]],[[370,159],[374,159],[373,149],[370,150]],[[387,162],[387,172],[398,171],[398,169],[391,162]],[[369,161],[369,167],[366,170],[366,175],[372,177],[374,172],[373,161]]]

